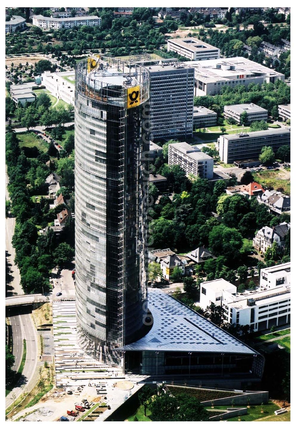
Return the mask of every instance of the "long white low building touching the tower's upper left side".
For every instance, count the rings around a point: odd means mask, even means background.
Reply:
[[[74,81],[75,79],[74,71],[63,71],[60,73],[45,71],[41,74],[40,78],[41,84],[44,85],[54,97],[65,101],[67,104],[75,104],[75,85],[69,82],[69,80]]]

